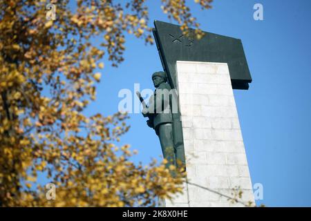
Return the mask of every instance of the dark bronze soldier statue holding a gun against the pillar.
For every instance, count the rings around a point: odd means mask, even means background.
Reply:
[[[169,165],[178,168],[185,167],[185,153],[183,148],[176,148],[173,140],[173,118],[172,118],[172,96],[171,86],[167,83],[167,75],[163,71],[153,73],[153,85],[156,87],[154,94],[149,99],[149,106],[144,104],[144,100],[138,93],[140,101],[144,106],[142,115],[148,117],[147,124],[156,131],[160,139],[164,159],[168,160]],[[182,146],[183,147],[183,146]],[[185,169],[185,168],[184,168]]]

